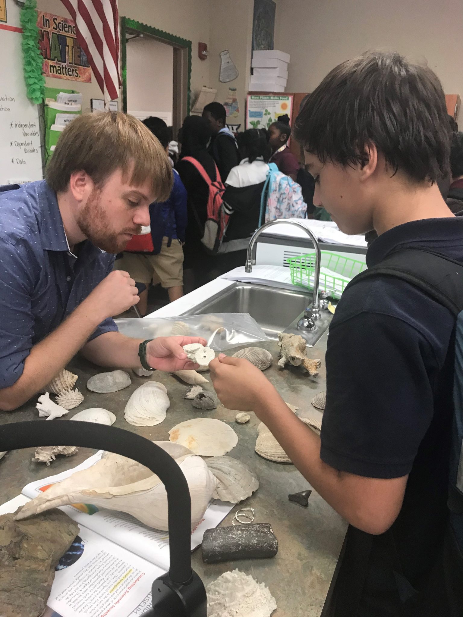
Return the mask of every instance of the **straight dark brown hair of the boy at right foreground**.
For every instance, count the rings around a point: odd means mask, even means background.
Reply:
[[[440,81],[394,52],[369,52],[328,73],[294,123],[294,137],[322,162],[365,165],[373,143],[415,182],[448,174],[449,122]]]

